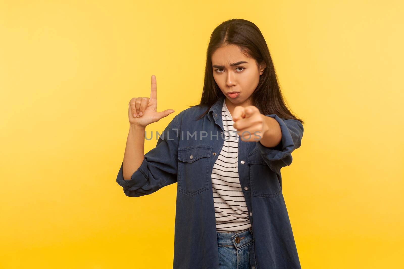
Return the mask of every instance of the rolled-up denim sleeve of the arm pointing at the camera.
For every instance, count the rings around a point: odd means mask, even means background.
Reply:
[[[258,150],[269,167],[276,173],[280,173],[280,168],[292,163],[293,150],[301,146],[303,138],[303,124],[297,119],[281,119],[276,114],[266,115],[278,121],[282,131],[281,142],[275,147],[266,147],[257,141]]]

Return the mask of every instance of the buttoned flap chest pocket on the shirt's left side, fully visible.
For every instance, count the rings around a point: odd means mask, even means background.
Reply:
[[[178,148],[178,185],[180,192],[194,196],[208,189],[212,146]]]

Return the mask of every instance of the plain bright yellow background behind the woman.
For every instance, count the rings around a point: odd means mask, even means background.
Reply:
[[[197,104],[213,29],[262,31],[301,148],[282,169],[302,268],[404,255],[402,1],[1,1],[1,268],[172,268],[177,184],[116,183],[128,102]],[[145,142],[145,152],[156,140]]]

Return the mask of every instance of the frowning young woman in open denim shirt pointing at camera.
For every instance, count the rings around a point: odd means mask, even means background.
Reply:
[[[177,185],[173,268],[301,268],[280,169],[301,146],[261,31],[231,19],[212,33],[200,104],[174,117],[144,154],[145,127],[173,113],[129,102],[129,134],[116,181],[127,196]],[[158,255],[156,251],[156,255]]]

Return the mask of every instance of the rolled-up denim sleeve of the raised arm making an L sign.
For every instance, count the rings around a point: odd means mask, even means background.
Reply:
[[[126,196],[138,197],[156,192],[177,182],[177,154],[179,143],[178,115],[158,138],[156,147],[145,154],[140,167],[130,179],[123,177],[123,162],[116,177]],[[157,132],[153,132],[154,139]]]

